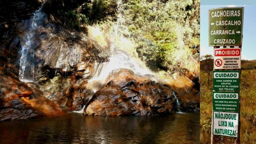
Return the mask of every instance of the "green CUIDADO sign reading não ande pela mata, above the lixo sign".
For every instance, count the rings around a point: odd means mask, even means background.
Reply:
[[[213,111],[239,111],[239,92],[213,91]]]

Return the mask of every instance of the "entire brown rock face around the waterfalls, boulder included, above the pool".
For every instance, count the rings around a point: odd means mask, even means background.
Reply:
[[[63,4],[46,1],[46,8],[40,9],[44,1],[0,1],[0,121],[58,115],[82,107],[85,115],[103,116],[166,115],[178,107],[182,111],[199,110],[199,83],[193,75],[176,75],[161,82],[156,76],[117,69],[106,81],[88,83],[110,60],[110,40],[95,39],[95,30],[89,27],[64,27],[57,14],[61,9],[57,7]],[[77,7],[76,1],[66,2]],[[54,3],[56,9],[49,8]],[[24,73],[40,87],[17,78],[23,68],[20,60],[24,47],[28,47],[23,55],[27,61]]]

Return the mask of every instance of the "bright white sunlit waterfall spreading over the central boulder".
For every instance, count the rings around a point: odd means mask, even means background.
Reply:
[[[95,62],[95,74],[92,79],[88,80],[88,87],[93,91],[97,91],[98,88],[98,86],[93,85],[99,82],[104,83],[107,76],[109,76],[109,74],[115,69],[125,68],[131,69],[139,75],[154,75],[154,73],[147,69],[145,64],[139,58],[136,58],[134,57],[134,55],[129,54],[129,52],[133,53],[131,51],[135,51],[134,53],[136,53],[136,49],[135,44],[129,39],[129,37],[124,37],[122,34],[122,31],[128,31],[128,28],[123,25],[125,22],[125,19],[122,15],[123,9],[124,7],[122,4],[122,0],[118,0],[117,21],[114,25],[112,25],[109,34],[111,55],[109,61],[107,62]],[[106,33],[101,33],[99,28],[96,28],[96,26],[91,29],[93,29],[93,31],[95,32],[92,33],[92,38],[94,39],[97,39],[97,37],[104,37],[104,35],[106,35]]]

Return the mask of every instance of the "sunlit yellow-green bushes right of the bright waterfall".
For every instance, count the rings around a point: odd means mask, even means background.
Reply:
[[[197,0],[130,0],[123,16],[139,56],[153,68],[181,66],[192,55],[188,48],[199,46]]]

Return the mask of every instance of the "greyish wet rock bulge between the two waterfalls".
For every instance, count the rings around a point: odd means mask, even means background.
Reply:
[[[78,71],[79,75],[85,75],[85,68],[81,65],[91,66],[95,61],[106,61],[108,54],[97,44],[83,33],[70,32],[72,37],[65,38],[64,32],[53,34],[49,29],[45,29],[47,38],[54,39],[42,40],[42,46],[36,48],[36,57],[41,60],[44,66],[61,69],[62,71]],[[68,42],[69,39],[72,42]],[[84,73],[82,73],[84,72]]]

